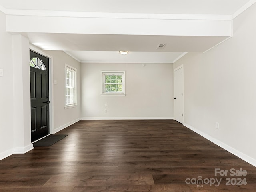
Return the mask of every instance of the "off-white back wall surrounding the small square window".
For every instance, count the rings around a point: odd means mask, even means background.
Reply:
[[[102,70],[126,71],[126,96],[100,95]],[[142,67],[142,64],[82,63],[81,91],[83,119],[174,116],[172,64],[145,64]]]

